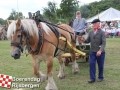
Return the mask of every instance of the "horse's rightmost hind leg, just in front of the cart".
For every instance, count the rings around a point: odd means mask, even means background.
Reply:
[[[71,59],[73,61],[73,63],[72,63],[72,72],[75,74],[75,73],[79,72],[79,67],[78,67],[78,64],[76,62],[75,51],[71,50],[70,52],[71,52]]]

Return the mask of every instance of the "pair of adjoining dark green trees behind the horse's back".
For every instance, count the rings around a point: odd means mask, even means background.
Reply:
[[[59,9],[56,8],[56,3],[49,2],[48,7],[43,9],[43,15],[51,22],[68,22],[78,8],[77,0],[62,0]]]

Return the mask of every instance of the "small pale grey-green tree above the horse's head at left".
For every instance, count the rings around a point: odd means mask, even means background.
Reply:
[[[10,16],[8,17],[8,20],[16,20],[18,18],[23,18],[23,14],[22,12],[16,12],[15,10],[12,10],[12,12],[10,13]]]

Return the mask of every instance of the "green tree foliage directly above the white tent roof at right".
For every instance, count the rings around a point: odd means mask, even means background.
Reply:
[[[99,2],[93,2],[88,5],[90,13],[87,18],[92,17],[110,7],[120,10],[120,0],[101,0]]]

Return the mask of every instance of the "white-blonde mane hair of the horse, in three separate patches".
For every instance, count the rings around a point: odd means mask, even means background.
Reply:
[[[9,25],[8,30],[7,30],[7,38],[10,39],[10,37],[16,31],[16,23],[17,23],[17,20],[12,21],[11,24]],[[43,26],[44,31],[47,34],[49,34],[49,32],[50,32],[49,27],[43,22],[41,22],[41,24]],[[38,30],[38,27],[37,27],[36,22],[34,20],[23,19],[23,20],[21,20],[21,25],[23,26],[24,30],[29,33],[29,35],[31,35],[31,36],[37,35],[37,37],[39,37],[39,35],[38,35],[39,30]]]

